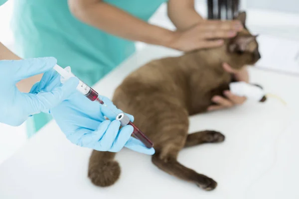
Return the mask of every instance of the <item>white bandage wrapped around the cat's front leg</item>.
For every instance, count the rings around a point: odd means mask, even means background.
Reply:
[[[266,95],[262,88],[246,82],[232,82],[230,92],[236,96],[246,97],[249,100],[260,101]]]

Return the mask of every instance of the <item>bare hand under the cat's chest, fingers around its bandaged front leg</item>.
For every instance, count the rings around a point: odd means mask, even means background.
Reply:
[[[249,74],[248,74],[248,71],[245,67],[242,68],[241,70],[235,70],[235,69],[232,69],[227,63],[224,63],[223,68],[228,73],[233,74],[236,81],[243,81],[243,82],[249,83]],[[223,95],[226,98],[223,98],[221,96],[214,96],[212,98],[212,101],[214,103],[216,103],[217,105],[209,106],[208,107],[209,111],[219,110],[219,109],[223,109],[223,108],[229,108],[229,107],[232,107],[234,105],[242,104],[246,101],[246,97],[235,96],[228,90],[224,91]]]

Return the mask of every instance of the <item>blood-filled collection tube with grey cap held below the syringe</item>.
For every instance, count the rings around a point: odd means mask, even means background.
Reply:
[[[151,148],[153,146],[153,143],[147,138],[147,136],[133,123],[130,121],[130,118],[128,115],[124,113],[120,113],[116,116],[116,119],[121,122],[122,126],[126,126],[127,124],[130,124],[133,126],[133,136],[139,139],[146,147]]]

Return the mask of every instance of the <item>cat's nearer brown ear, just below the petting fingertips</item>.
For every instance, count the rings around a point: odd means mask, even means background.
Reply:
[[[228,50],[231,53],[244,52],[248,44],[256,39],[258,35],[244,35],[237,36],[228,46]]]

